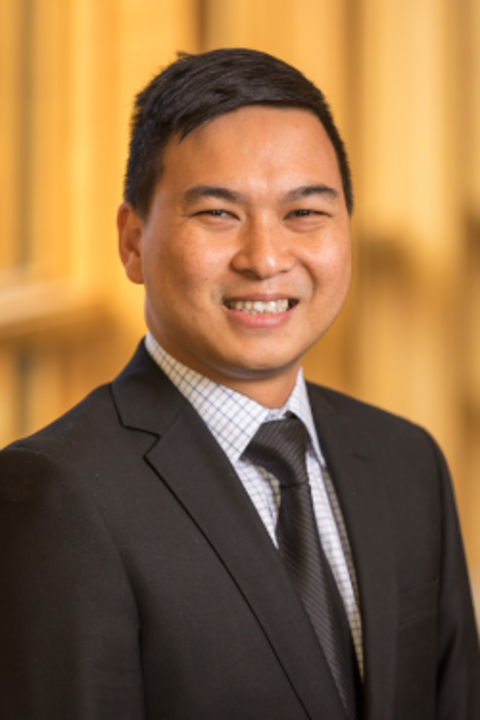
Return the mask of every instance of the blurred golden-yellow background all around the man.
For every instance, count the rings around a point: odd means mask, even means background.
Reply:
[[[332,105],[356,273],[307,376],[436,436],[480,590],[478,0],[0,0],[0,445],[144,333],[115,231],[133,96],[178,50],[222,46],[285,59]]]

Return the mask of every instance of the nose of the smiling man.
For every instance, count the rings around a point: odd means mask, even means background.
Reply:
[[[239,248],[232,259],[236,272],[267,280],[288,272],[295,264],[285,232],[275,221],[252,221],[239,236]]]

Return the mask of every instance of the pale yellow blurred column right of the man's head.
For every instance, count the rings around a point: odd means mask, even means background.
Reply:
[[[462,217],[449,6],[364,0],[357,367],[365,393],[425,423],[453,451]]]

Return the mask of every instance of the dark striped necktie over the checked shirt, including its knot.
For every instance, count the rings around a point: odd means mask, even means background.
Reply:
[[[276,527],[280,555],[323,649],[348,720],[360,720],[360,673],[345,607],[318,535],[305,459],[307,437],[296,417],[266,422],[244,456],[280,483]]]

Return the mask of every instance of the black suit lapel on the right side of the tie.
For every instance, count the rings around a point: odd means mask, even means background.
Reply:
[[[390,720],[398,610],[385,490],[361,427],[353,427],[318,388],[310,389],[310,397],[347,527],[359,585],[365,663],[364,717]]]

